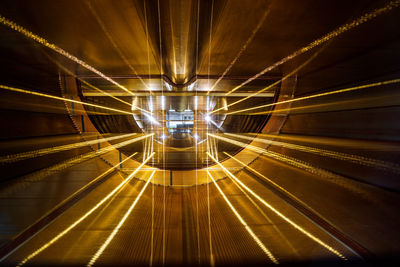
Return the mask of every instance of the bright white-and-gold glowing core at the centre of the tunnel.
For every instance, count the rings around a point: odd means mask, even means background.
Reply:
[[[153,141],[167,147],[194,147],[207,139],[207,132],[221,130],[223,114],[209,115],[215,106],[224,106],[224,99],[210,96],[164,95],[155,92],[134,97],[132,105],[150,110],[134,109],[133,118],[144,133],[154,133]],[[218,103],[218,104],[217,104]]]

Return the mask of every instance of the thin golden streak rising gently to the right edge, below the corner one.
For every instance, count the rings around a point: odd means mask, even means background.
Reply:
[[[266,108],[266,107],[272,107],[272,106],[276,106],[276,105],[279,105],[279,104],[292,103],[292,102],[297,102],[297,101],[301,101],[301,100],[313,99],[313,98],[316,98],[316,97],[322,97],[322,96],[328,96],[328,95],[334,95],[334,94],[341,94],[341,93],[352,92],[352,91],[362,90],[362,89],[366,89],[366,88],[372,88],[372,87],[378,87],[378,86],[382,86],[382,85],[389,85],[389,84],[396,84],[396,83],[400,83],[400,79],[393,79],[393,80],[387,80],[387,81],[383,81],[383,82],[364,84],[364,85],[359,85],[359,86],[339,89],[339,90],[325,92],[325,93],[319,93],[319,94],[314,94],[314,95],[309,95],[309,96],[297,97],[297,98],[293,98],[293,99],[289,99],[289,100],[284,100],[284,101],[279,101],[279,102],[275,102],[275,103],[260,105],[260,106],[256,106],[256,107],[250,107],[250,108],[245,108],[245,109],[241,109],[241,110],[235,110],[235,111],[227,112],[227,113],[224,113],[224,114],[232,115],[232,114],[242,113],[242,112],[246,112],[246,111],[250,111],[250,110]],[[290,109],[275,110],[275,111],[265,111],[265,112],[259,112],[257,114],[268,114],[268,113],[273,113],[273,112],[278,112],[278,111],[286,111],[286,110],[290,110]],[[214,113],[216,111],[218,111],[218,109],[214,110],[213,112],[210,112],[210,114]]]

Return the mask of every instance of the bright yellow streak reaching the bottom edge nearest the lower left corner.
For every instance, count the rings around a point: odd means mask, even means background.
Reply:
[[[27,263],[29,260],[40,254],[43,250],[46,248],[50,247],[52,244],[57,242],[60,238],[65,236],[67,233],[69,233],[72,229],[74,229],[78,224],[80,224],[82,221],[84,221],[87,217],[89,217],[93,212],[95,212],[99,207],[101,207],[108,199],[110,199],[113,195],[115,195],[121,188],[123,188],[132,178],[134,175],[153,157],[155,153],[153,152],[142,164],[140,164],[139,167],[136,168],[124,181],[122,181],[117,187],[114,188],[113,191],[111,191],[106,197],[104,197],[102,200],[97,202],[97,204],[90,209],[88,212],[86,212],[83,216],[81,216],[78,220],[76,220],[74,223],[72,223],[70,226],[68,226],[65,230],[63,230],[61,233],[56,235],[53,239],[45,243],[43,246],[35,250],[33,253],[29,254],[25,259],[23,259],[17,266],[22,266],[25,263]],[[118,163],[117,165],[119,165]]]

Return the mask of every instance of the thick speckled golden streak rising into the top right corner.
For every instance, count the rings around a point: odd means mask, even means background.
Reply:
[[[337,36],[339,36],[340,34],[347,32],[365,22],[368,22],[369,20],[387,12],[392,10],[393,8],[396,8],[400,5],[400,0],[394,0],[394,1],[390,1],[386,6],[381,7],[381,8],[377,8],[371,12],[368,12],[364,15],[362,15],[361,17],[353,20],[352,22],[346,23],[342,26],[340,26],[339,28],[337,28],[336,30],[333,30],[331,32],[329,32],[328,34],[322,36],[321,38],[309,43],[307,46],[295,51],[294,53],[290,54],[289,56],[281,59],[280,61],[274,63],[273,65],[265,68],[264,70],[262,70],[261,72],[257,73],[256,75],[254,75],[253,77],[247,79],[246,81],[244,81],[243,83],[241,83],[240,85],[236,86],[235,88],[233,88],[232,90],[230,90],[228,93],[226,93],[226,95],[229,95],[233,92],[235,92],[236,90],[238,90],[239,88],[241,88],[242,86],[250,83],[251,81],[257,79],[258,77],[262,76],[263,74],[265,74],[268,71],[271,71],[273,69],[275,69],[276,67],[286,63],[287,61],[301,55],[304,54],[305,52],[313,49],[316,46],[319,46],[327,41],[329,41],[332,38],[335,38]]]

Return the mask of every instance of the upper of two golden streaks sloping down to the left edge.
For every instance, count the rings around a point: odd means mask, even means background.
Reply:
[[[0,157],[0,164],[13,163],[13,162],[17,162],[17,161],[21,161],[21,160],[25,160],[25,159],[41,157],[41,156],[48,155],[48,154],[53,154],[53,153],[57,153],[57,152],[65,151],[65,150],[71,150],[71,149],[75,149],[75,148],[84,147],[84,146],[91,146],[91,145],[95,145],[98,143],[103,143],[103,142],[107,142],[107,141],[131,137],[134,135],[136,135],[136,133],[118,135],[118,136],[113,136],[113,137],[108,137],[108,138],[94,139],[91,141],[83,141],[83,142],[78,142],[78,143],[74,143],[74,144],[55,146],[55,147],[43,148],[43,149],[38,149],[38,150],[33,150],[33,151],[28,151],[28,152],[22,152],[22,153],[13,154],[13,155],[2,156],[2,157]]]

